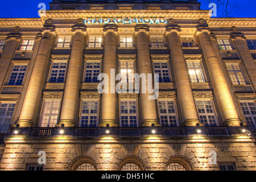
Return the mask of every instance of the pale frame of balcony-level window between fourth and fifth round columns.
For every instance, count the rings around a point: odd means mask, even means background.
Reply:
[[[160,111],[160,102],[165,102],[164,103],[164,105],[166,106],[166,110],[168,111],[168,104],[167,104],[167,101],[172,101],[172,102],[174,102],[174,113],[161,113],[161,111]],[[163,99],[163,98],[159,98],[158,99],[158,115],[159,115],[159,120],[160,120],[160,124],[161,124],[161,126],[162,127],[179,127],[180,126],[180,123],[179,123],[179,118],[178,118],[178,114],[177,114],[177,107],[176,107],[176,101],[175,101],[175,99]],[[163,125],[163,123],[162,123],[162,116],[167,116],[167,122],[168,122],[168,126],[165,126],[165,125]],[[176,120],[176,126],[174,125],[174,123],[171,123],[171,121],[170,121],[170,116],[172,116],[172,117],[175,117],[175,120]],[[173,126],[172,126],[173,125]]]

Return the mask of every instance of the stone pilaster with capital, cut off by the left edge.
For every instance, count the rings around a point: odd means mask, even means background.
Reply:
[[[3,84],[5,82],[5,77],[10,67],[11,60],[13,59],[14,53],[17,49],[18,43],[20,40],[19,35],[9,35],[6,38],[5,48],[3,49],[3,53],[0,58],[0,93],[3,88]]]

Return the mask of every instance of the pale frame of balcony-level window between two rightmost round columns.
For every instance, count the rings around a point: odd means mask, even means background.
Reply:
[[[203,101],[203,106],[204,106],[205,113],[200,113],[199,112],[199,107],[197,105],[197,101]],[[213,111],[212,113],[208,113],[207,112],[207,110],[209,108],[207,108],[207,105],[205,104],[205,101],[209,101],[210,102],[210,106],[212,107],[211,109]],[[212,99],[204,99],[204,98],[203,99],[195,99],[195,104],[196,104],[197,114],[199,115],[199,121],[200,121],[201,124],[204,124],[204,126],[209,126],[209,127],[219,126],[218,125],[218,118],[217,118],[216,108],[215,108],[215,106],[213,104]],[[201,122],[200,116],[205,116],[205,118],[207,119],[207,123]],[[213,125],[211,125],[211,122],[209,121],[209,119],[212,119],[212,118],[209,118],[209,116],[213,116],[214,117],[214,121],[215,122],[214,122]],[[205,118],[203,118],[203,119],[205,119]],[[207,125],[205,125],[205,124],[207,124]]]

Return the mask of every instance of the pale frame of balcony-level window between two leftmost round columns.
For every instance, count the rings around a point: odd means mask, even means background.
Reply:
[[[45,114],[44,113],[44,109],[46,109],[46,104],[47,102],[51,101],[51,107],[49,107],[48,110],[51,111],[50,114]],[[52,114],[53,111],[53,102],[59,102],[59,110],[57,114]],[[42,109],[41,109],[41,115],[40,115],[40,122],[39,122],[39,127],[55,127],[55,125],[57,124],[59,117],[60,117],[60,109],[61,109],[61,104],[62,104],[62,100],[59,98],[44,98],[43,103],[42,103]],[[48,122],[47,123],[43,123],[43,117],[44,116],[49,116],[48,118]],[[54,120],[56,120],[54,123],[51,122],[51,117],[56,117],[53,118]],[[47,124],[47,126],[45,126]]]

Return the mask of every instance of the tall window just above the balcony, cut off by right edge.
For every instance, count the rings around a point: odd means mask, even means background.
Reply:
[[[253,101],[240,101],[250,131],[256,131],[256,107]]]

